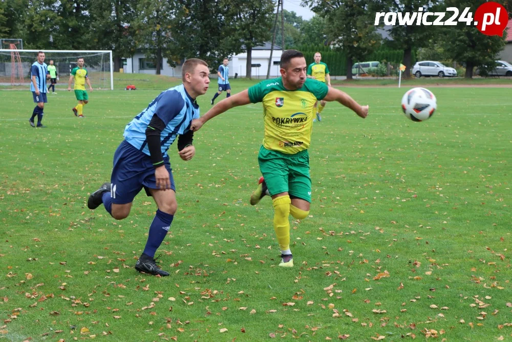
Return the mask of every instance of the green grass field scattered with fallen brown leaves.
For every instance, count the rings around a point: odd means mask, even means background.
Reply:
[[[124,126],[177,84],[136,76],[116,85],[152,89],[94,91],[84,119],[58,89],[46,129],[27,122],[28,90],[0,91],[0,340],[512,340],[510,88],[431,88],[438,110],[414,123],[400,111],[412,84],[344,87],[370,115],[330,103],[314,124],[292,269],[276,266],[270,199],[248,204],[261,105],[211,120],[193,160],[169,150],[179,208],[160,278],[133,268],[151,198],[121,221],[86,206]]]

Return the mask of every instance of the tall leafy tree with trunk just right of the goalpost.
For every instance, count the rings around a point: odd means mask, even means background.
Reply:
[[[90,39],[96,49],[112,50],[114,70],[121,67],[121,58],[135,53],[135,25],[138,0],[95,1],[91,6]]]

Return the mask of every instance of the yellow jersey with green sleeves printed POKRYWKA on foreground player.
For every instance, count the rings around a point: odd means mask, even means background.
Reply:
[[[315,103],[329,91],[325,83],[306,78],[301,89],[288,90],[279,77],[260,82],[248,91],[251,103],[263,103],[263,147],[286,154],[309,148]]]

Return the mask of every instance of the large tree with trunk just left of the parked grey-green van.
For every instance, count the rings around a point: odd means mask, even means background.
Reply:
[[[352,79],[354,60],[364,59],[380,45],[373,25],[370,0],[305,0],[313,12],[326,19],[328,38],[347,56],[347,79]]]

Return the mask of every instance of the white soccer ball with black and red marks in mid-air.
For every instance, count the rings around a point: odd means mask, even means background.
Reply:
[[[428,120],[436,108],[436,96],[428,89],[413,88],[403,94],[402,110],[408,119],[416,122]]]

